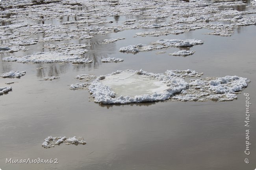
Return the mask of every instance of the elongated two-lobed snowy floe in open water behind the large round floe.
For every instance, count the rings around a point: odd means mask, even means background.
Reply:
[[[155,49],[163,49],[169,47],[191,47],[197,44],[203,44],[204,41],[202,40],[195,40],[195,39],[187,39],[187,40],[180,40],[180,39],[160,39],[156,42],[152,42],[152,45],[145,45],[145,44],[136,44],[136,45],[129,45],[126,47],[121,47],[119,51],[127,52],[127,53],[137,53],[139,51],[150,51]],[[156,44],[161,44],[161,46],[155,46]]]

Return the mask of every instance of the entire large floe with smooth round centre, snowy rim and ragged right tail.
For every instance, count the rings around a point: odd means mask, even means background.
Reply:
[[[191,79],[203,73],[193,70],[167,70],[165,73],[146,71],[117,71],[100,76],[89,86],[95,102],[103,104],[126,104],[163,101],[232,101],[236,94],[247,87],[250,80],[238,76]]]

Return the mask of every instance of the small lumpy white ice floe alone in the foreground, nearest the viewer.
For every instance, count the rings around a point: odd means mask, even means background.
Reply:
[[[83,137],[52,137],[48,136],[45,138],[45,141],[43,142],[42,146],[44,148],[52,148],[56,145],[59,145],[61,143],[65,144],[86,144]]]

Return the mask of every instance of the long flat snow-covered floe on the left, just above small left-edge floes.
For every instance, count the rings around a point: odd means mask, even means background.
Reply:
[[[16,61],[22,63],[51,63],[51,62],[72,62],[78,63],[91,63],[93,60],[89,58],[83,58],[81,56],[63,55],[54,51],[39,52],[33,55],[27,55],[24,57],[5,57],[3,61]]]

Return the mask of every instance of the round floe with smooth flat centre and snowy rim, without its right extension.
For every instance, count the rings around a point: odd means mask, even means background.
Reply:
[[[163,101],[187,88],[189,84],[183,79],[189,75],[187,72],[193,71],[167,70],[164,74],[142,70],[117,71],[94,80],[89,92],[95,102],[104,104]]]

